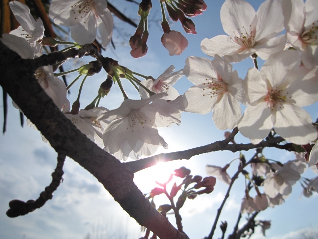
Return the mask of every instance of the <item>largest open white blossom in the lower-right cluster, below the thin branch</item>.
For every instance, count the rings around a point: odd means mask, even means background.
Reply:
[[[275,173],[266,174],[264,191],[270,198],[275,198],[278,194],[288,196],[292,192],[292,185],[299,179],[300,173],[285,164]]]

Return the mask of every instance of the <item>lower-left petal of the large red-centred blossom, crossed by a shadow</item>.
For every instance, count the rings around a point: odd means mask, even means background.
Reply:
[[[272,127],[271,111],[265,102],[248,106],[238,125],[241,134],[248,137],[253,144],[261,142]]]

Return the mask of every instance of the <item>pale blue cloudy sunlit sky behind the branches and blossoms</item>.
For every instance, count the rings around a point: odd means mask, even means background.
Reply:
[[[136,19],[138,5],[125,0],[109,0],[119,10]],[[159,0],[153,1],[153,8],[149,16],[148,53],[145,57],[134,59],[130,56],[128,40],[134,34],[135,28],[115,18],[114,43],[116,49],[108,46],[103,52],[106,57],[119,61],[119,64],[139,72],[143,75],[152,75],[157,78],[170,65],[176,71],[185,65],[188,56],[207,57],[202,53],[200,42],[204,38],[212,38],[225,34],[220,21],[220,9],[223,0],[206,0],[207,10],[203,15],[194,17],[197,35],[186,34],[179,22],[171,24],[171,30],[180,31],[189,41],[189,47],[180,56],[169,56],[168,51],[161,44],[161,11]],[[257,10],[262,0],[248,0]],[[209,58],[209,57],[208,57]],[[84,64],[92,59],[85,57],[77,61]],[[72,61],[72,60],[71,60]],[[71,61],[65,65],[65,70],[76,67]],[[263,62],[258,59],[259,67]],[[233,68],[244,79],[247,70],[253,67],[252,59],[248,58],[240,63],[233,64]],[[67,76],[68,83],[75,79],[76,74]],[[106,79],[106,73],[89,77],[81,94],[81,106],[84,108],[96,96],[99,85]],[[122,80],[124,88],[131,99],[138,99],[136,90]],[[76,99],[80,81],[71,88],[68,98],[71,102]],[[183,94],[192,83],[186,77],[181,78],[175,88]],[[2,91],[1,91],[2,94]],[[1,96],[2,98],[2,96]],[[100,106],[115,109],[122,103],[123,97],[117,85],[113,85],[109,95],[103,98]],[[10,100],[9,100],[10,102]],[[305,107],[311,114],[313,121],[318,117],[317,103]],[[3,106],[0,106],[2,111]],[[244,108],[243,108],[244,109]],[[0,135],[0,239],[138,239],[144,233],[140,232],[140,225],[113,200],[103,186],[86,170],[72,159],[67,158],[63,168],[64,181],[41,209],[18,218],[8,218],[5,212],[12,199],[27,201],[36,199],[39,193],[51,182],[51,173],[56,166],[56,153],[41,140],[40,133],[26,125],[21,128],[19,112],[11,103],[8,109],[8,125],[5,135]],[[218,130],[211,117],[212,113],[199,115],[182,113],[180,126],[159,128],[159,134],[169,145],[169,149],[159,148],[157,153],[174,152],[210,144],[224,138],[224,131]],[[3,117],[0,117],[0,125]],[[238,143],[249,143],[249,139],[240,133],[235,138]],[[264,155],[269,159],[286,162],[295,159],[291,152],[278,149],[264,149]],[[248,160],[254,150],[243,152]],[[239,157],[239,152],[213,152],[195,156],[190,160],[178,160],[145,169],[135,174],[134,181],[143,193],[148,193],[156,187],[155,180],[164,181],[164,178],[181,166],[191,169],[192,175],[207,176],[205,165],[224,166],[232,159]],[[231,164],[228,173],[232,176],[237,169],[238,161]],[[313,178],[315,173],[308,169],[302,176]],[[230,197],[222,211],[214,238],[221,236],[220,221],[228,222],[227,234],[231,233],[239,215],[241,199],[244,197],[244,178],[242,175],[235,182]],[[215,190],[208,195],[199,195],[194,200],[187,200],[180,210],[183,218],[184,231],[191,239],[207,236],[215,219],[216,211],[226,193],[227,185],[217,181]],[[269,239],[298,239],[304,238],[304,233],[318,234],[318,196],[314,193],[311,198],[300,196],[302,187],[297,183],[292,194],[285,203],[275,208],[268,208],[259,213],[256,219],[271,220],[271,228],[266,234]],[[254,196],[252,190],[251,196]],[[163,196],[155,197],[155,203],[168,203]],[[241,224],[244,223],[243,215]],[[174,215],[168,215],[170,222],[175,225]],[[263,239],[260,228],[252,239]]]

